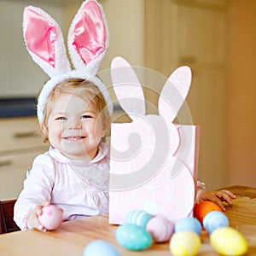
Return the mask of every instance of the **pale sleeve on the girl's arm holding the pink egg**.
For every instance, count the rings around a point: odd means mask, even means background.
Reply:
[[[55,168],[53,161],[49,155],[38,155],[33,162],[29,176],[24,182],[24,189],[15,203],[14,219],[20,230],[27,229],[27,218],[34,207],[42,204],[45,200],[50,201],[54,182]]]

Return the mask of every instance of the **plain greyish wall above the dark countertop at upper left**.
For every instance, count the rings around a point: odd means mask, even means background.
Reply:
[[[22,32],[22,14],[35,1],[0,1],[0,98],[37,96],[48,76],[32,61]],[[62,24],[63,10],[51,3],[39,7]],[[60,25],[61,26],[61,25]]]

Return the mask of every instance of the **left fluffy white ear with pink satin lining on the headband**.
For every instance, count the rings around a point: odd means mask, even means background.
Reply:
[[[23,14],[26,48],[33,61],[53,77],[70,71],[61,29],[42,9],[26,7]]]

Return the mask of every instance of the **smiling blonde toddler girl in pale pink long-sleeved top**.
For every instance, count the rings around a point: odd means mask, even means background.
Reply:
[[[104,97],[95,84],[67,79],[55,86],[44,107],[41,130],[50,148],[38,155],[15,204],[21,228],[45,230],[38,222],[52,203],[70,220],[108,212],[109,126]]]

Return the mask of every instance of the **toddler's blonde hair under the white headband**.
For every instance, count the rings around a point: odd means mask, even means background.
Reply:
[[[110,117],[107,104],[98,87],[85,79],[67,79],[55,86],[45,102],[43,112],[44,119],[40,125],[40,130],[44,134],[44,142],[49,141],[47,134],[44,132],[44,128],[46,128],[46,131],[48,130],[47,123],[49,115],[53,109],[55,99],[61,94],[73,94],[74,96],[79,96],[85,102],[91,102],[99,111],[104,128],[109,130]]]

